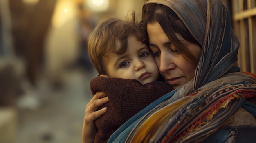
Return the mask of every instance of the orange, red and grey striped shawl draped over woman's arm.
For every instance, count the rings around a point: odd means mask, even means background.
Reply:
[[[146,116],[148,118],[137,124],[126,142],[201,142],[232,122],[232,115],[245,99],[256,96],[256,84],[225,83],[194,94]]]

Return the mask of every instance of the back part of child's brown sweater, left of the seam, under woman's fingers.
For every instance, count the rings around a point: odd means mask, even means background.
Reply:
[[[109,137],[117,130],[124,122],[124,114],[121,109],[122,95],[126,85],[130,82],[128,79],[104,78],[97,77],[90,82],[92,94],[102,91],[106,93],[109,102],[100,106],[108,107],[108,111],[101,117],[95,120],[97,134],[94,143],[106,143]]]

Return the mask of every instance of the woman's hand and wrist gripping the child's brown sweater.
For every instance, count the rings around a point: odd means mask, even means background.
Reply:
[[[108,109],[107,107],[104,107],[101,110],[95,110],[108,101],[108,97],[106,97],[105,93],[97,92],[86,105],[83,120],[82,143],[94,143],[94,138],[97,132],[95,120],[105,114]]]

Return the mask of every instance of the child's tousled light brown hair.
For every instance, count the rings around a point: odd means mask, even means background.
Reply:
[[[135,35],[137,40],[144,44],[147,43],[146,31],[136,24],[135,20],[125,21],[119,18],[108,18],[95,27],[88,40],[88,54],[99,75],[108,75],[106,71],[108,54],[112,52],[124,53],[129,44],[128,37],[130,35]],[[115,51],[115,40],[121,42],[119,51]]]

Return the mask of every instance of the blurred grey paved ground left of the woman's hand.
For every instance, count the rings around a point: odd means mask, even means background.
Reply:
[[[43,105],[18,111],[16,143],[81,143],[85,105],[92,97],[89,81],[95,72],[65,73],[63,86],[47,90]]]

